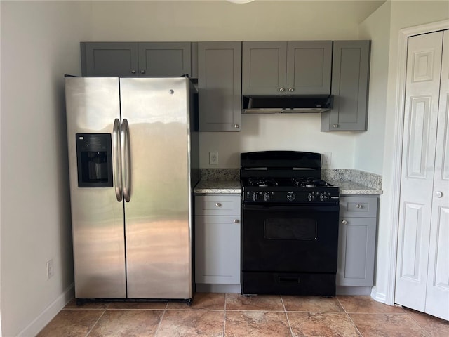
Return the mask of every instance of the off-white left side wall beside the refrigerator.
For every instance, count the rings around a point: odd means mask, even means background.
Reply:
[[[1,328],[34,336],[73,283],[64,74],[80,73],[91,4],[0,6]],[[55,275],[47,280],[50,259]]]

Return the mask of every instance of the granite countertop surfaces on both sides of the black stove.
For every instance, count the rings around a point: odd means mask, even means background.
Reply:
[[[330,184],[338,186],[340,194],[382,194],[382,190],[376,190],[365,185],[354,183],[350,180],[330,180]],[[240,194],[239,180],[200,180],[194,187],[195,194]]]

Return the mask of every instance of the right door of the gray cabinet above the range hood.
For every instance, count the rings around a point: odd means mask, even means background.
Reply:
[[[332,41],[288,41],[288,95],[329,95]]]

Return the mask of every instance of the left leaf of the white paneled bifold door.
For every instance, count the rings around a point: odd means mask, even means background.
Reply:
[[[436,32],[408,39],[395,301],[421,311],[426,303],[442,36]]]

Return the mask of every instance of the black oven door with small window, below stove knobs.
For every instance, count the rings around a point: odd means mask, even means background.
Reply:
[[[338,205],[242,204],[243,272],[337,272]]]

